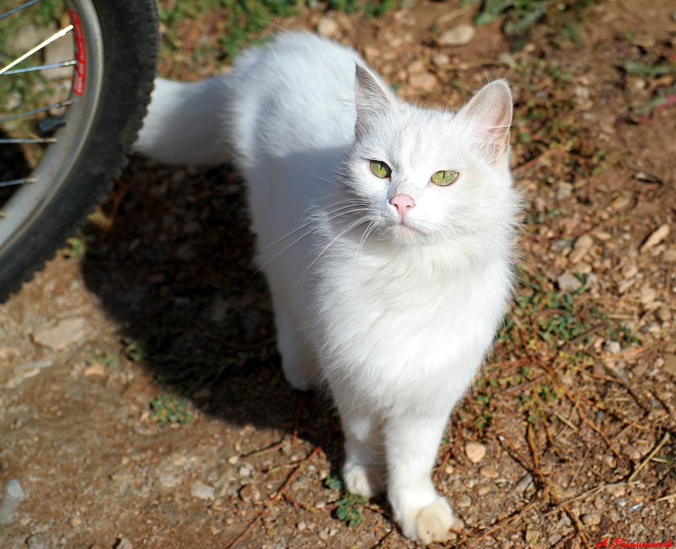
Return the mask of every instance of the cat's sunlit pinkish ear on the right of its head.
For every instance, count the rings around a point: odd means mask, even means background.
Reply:
[[[490,160],[498,163],[510,149],[512,91],[507,80],[495,80],[481,88],[458,112],[471,124],[477,143]]]

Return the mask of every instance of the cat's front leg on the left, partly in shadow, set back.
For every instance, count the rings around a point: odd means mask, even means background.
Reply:
[[[368,413],[346,384],[331,384],[345,437],[342,478],[348,491],[371,498],[384,491],[386,480],[382,426],[379,416]]]

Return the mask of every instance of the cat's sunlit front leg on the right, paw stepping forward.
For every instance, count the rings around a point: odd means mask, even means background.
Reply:
[[[384,429],[388,465],[388,499],[406,537],[429,544],[444,541],[453,512],[434,489],[431,470],[450,409],[416,415],[408,411],[388,418]]]

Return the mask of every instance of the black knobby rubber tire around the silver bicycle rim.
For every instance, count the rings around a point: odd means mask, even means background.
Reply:
[[[91,0],[103,40],[101,99],[86,143],[57,193],[0,255],[0,302],[55,256],[127,164],[153,90],[158,51],[154,0]]]

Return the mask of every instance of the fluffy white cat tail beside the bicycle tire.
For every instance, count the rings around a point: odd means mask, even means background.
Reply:
[[[166,164],[227,162],[226,87],[223,76],[189,84],[157,78],[136,152]]]

